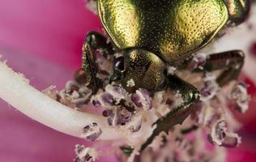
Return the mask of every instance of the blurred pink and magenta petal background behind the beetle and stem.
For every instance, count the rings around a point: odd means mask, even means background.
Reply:
[[[0,1],[0,53],[38,89],[51,84],[63,87],[80,66],[87,32],[101,28],[99,18],[85,9],[83,0]],[[242,79],[250,83],[250,92],[256,96],[254,83],[246,76]],[[244,116],[236,113],[244,124],[240,130],[243,143],[228,151],[228,161],[256,159],[255,100],[250,105]],[[0,161],[72,161],[76,143],[87,145],[32,121],[0,100]]]

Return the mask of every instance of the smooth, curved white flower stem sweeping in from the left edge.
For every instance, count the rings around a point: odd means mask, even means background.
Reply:
[[[100,139],[122,137],[108,126],[104,117],[81,113],[45,96],[3,62],[0,62],[0,98],[28,117],[64,134],[81,138],[83,127],[96,122],[102,130]]]

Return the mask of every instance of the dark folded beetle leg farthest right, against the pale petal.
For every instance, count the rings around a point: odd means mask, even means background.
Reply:
[[[245,54],[241,50],[214,53],[208,56],[203,70],[224,70],[216,79],[220,87],[238,78],[244,64]]]

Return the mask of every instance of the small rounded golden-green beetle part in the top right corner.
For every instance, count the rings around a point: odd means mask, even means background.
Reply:
[[[224,0],[228,7],[229,20],[235,25],[243,23],[250,11],[251,0]]]

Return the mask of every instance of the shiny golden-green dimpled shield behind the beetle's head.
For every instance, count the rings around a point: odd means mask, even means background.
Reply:
[[[120,49],[175,62],[207,45],[228,19],[223,0],[99,0],[100,19]]]

